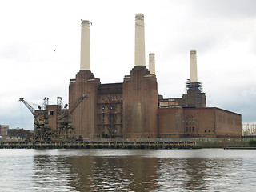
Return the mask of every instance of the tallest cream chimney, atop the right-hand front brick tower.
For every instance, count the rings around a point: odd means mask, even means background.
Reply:
[[[135,66],[146,66],[144,14],[135,16]]]

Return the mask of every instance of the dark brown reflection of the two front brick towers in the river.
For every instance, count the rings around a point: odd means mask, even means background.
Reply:
[[[76,157],[72,186],[78,191],[143,191],[157,188],[156,158]]]

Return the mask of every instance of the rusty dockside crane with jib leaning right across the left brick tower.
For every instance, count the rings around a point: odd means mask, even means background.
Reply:
[[[58,140],[66,140],[74,138],[74,127],[71,126],[71,115],[74,113],[74,110],[79,106],[86,94],[83,94],[70,110],[60,110],[58,113],[57,124],[58,124]]]

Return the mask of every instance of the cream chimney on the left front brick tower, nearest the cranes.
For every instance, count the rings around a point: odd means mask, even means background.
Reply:
[[[81,23],[81,55],[80,70],[90,70],[90,22]]]

